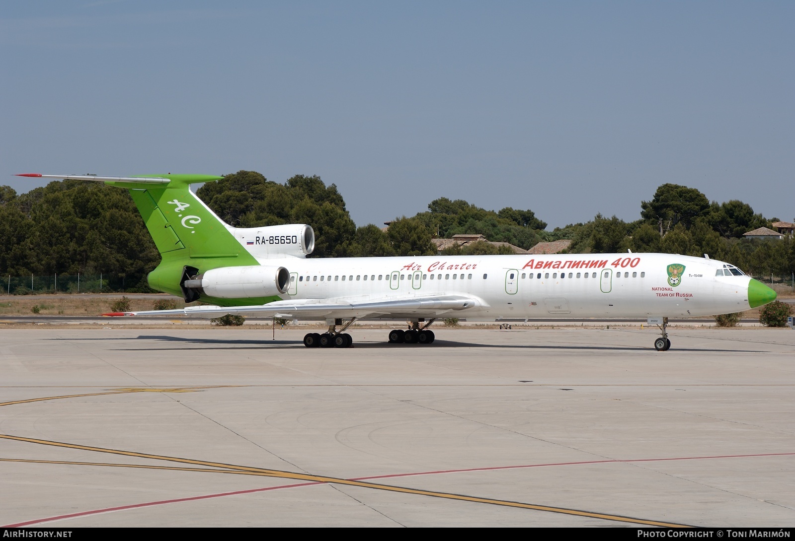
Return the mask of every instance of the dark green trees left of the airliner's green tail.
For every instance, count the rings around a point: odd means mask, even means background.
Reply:
[[[83,180],[0,187],[0,239],[0,272],[12,276],[114,272],[145,287],[160,261],[130,194]]]

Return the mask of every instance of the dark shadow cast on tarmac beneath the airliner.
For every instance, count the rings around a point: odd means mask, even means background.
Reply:
[[[58,338],[61,339],[61,338]],[[88,340],[107,340],[108,338],[84,338]],[[209,347],[180,347],[180,350],[294,350],[304,348],[303,342],[293,340],[231,340],[219,338],[187,338],[181,336],[140,335],[136,338],[113,338],[114,340],[157,340],[161,342],[174,342],[180,344],[206,344]],[[218,347],[211,347],[218,346]],[[434,348],[471,348],[482,347],[487,349],[528,349],[528,350],[609,350],[609,351],[654,351],[652,346],[553,346],[539,344],[478,344],[471,342],[452,342],[449,340],[436,340],[432,346],[421,344],[390,344],[388,342],[354,342],[355,348],[368,350],[433,350]],[[335,349],[335,348],[329,348]],[[115,351],[158,351],[161,348],[116,348]],[[749,350],[716,350],[714,348],[676,348],[681,352],[695,353],[763,353],[762,351]]]

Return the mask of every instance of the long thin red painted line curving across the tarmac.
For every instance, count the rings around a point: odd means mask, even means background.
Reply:
[[[675,457],[675,458],[637,458],[634,460],[587,460],[581,462],[549,462],[545,464],[525,464],[522,466],[493,466],[487,468],[467,468],[463,470],[434,470],[434,471],[427,471],[427,472],[415,472],[415,473],[391,473],[389,475],[370,475],[368,477],[351,477],[349,481],[367,481],[371,479],[387,479],[387,478],[395,478],[395,477],[413,477],[418,475],[434,475],[436,473],[467,473],[467,472],[479,472],[479,471],[496,471],[496,470],[519,470],[522,468],[541,468],[547,466],[581,466],[584,464],[626,464],[630,462],[673,462],[675,460],[708,460],[711,458],[754,458],[754,457],[785,457],[785,456],[793,456],[795,453],[760,453],[760,454],[716,454],[714,456],[708,457]],[[110,507],[110,508],[103,508],[103,509],[94,509],[92,511],[83,511],[83,512],[76,512],[71,513],[69,515],[59,515],[59,516],[49,516],[45,519],[35,519],[35,520],[27,520],[25,522],[19,522],[17,524],[6,524],[0,527],[22,527],[22,526],[29,526],[31,524],[42,524],[45,522],[54,522],[56,520],[64,520],[64,519],[73,519],[79,516],[88,516],[88,515],[99,515],[100,513],[107,513],[107,512],[114,512],[114,511],[126,511],[127,509],[136,509],[136,508],[143,508],[143,507],[152,507],[153,505],[163,505],[163,504],[177,504],[184,501],[195,501],[195,500],[207,500],[209,498],[219,498],[224,496],[237,496],[238,494],[251,494],[251,493],[261,493],[266,492],[269,490],[277,490],[277,489],[294,489],[301,486],[311,486],[311,485],[324,485],[324,483],[318,482],[310,482],[310,483],[297,483],[293,485],[278,485],[278,486],[269,486],[264,489],[250,489],[250,490],[238,490],[231,493],[217,493],[217,494],[205,494],[204,496],[194,496],[188,498],[176,498],[174,500],[159,500],[159,501],[149,501],[143,504],[131,504],[131,505],[121,505],[119,507]]]

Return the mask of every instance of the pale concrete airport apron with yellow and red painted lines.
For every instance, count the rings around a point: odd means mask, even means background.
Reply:
[[[789,328],[434,330],[4,328],[0,524],[795,524]]]

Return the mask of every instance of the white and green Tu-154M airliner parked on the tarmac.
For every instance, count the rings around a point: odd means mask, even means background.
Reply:
[[[307,258],[307,224],[227,225],[189,186],[207,175],[42,175],[127,188],[162,261],[149,286],[200,306],[107,315],[222,315],[325,320],[307,347],[351,347],[359,320],[404,320],[390,343],[430,344],[437,319],[646,318],[668,350],[671,317],[727,314],[776,299],[773,289],[724,261],[669,253]]]

